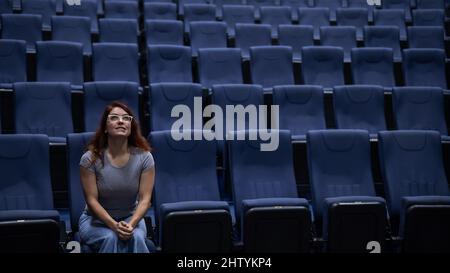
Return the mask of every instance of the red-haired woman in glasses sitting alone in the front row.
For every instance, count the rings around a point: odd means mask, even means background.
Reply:
[[[87,204],[79,221],[81,243],[95,252],[152,251],[143,217],[151,205],[154,161],[126,105],[106,107],[81,157],[80,176]]]

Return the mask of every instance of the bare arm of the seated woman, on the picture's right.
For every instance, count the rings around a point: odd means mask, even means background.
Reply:
[[[151,206],[151,198],[153,192],[153,185],[155,180],[155,167],[144,171],[141,174],[139,182],[139,201],[137,208],[130,219],[129,224],[134,229],[142,217],[145,216],[147,210]]]

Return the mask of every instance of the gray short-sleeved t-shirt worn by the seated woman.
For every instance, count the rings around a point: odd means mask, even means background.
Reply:
[[[120,168],[113,166],[106,154],[103,156],[104,165],[99,158],[91,164],[92,155],[90,151],[84,153],[80,166],[95,174],[99,203],[113,218],[130,216],[137,205],[141,174],[155,165],[152,154],[131,148],[130,159]]]

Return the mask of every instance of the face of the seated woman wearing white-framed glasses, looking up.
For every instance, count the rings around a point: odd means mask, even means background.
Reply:
[[[125,136],[131,134],[133,117],[120,107],[114,107],[106,120],[106,131],[109,136]]]

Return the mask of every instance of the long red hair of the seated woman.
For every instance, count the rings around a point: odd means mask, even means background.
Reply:
[[[133,119],[131,120],[131,133],[128,136],[128,146],[134,146],[137,148],[140,148],[144,151],[150,151],[150,145],[148,144],[147,140],[142,136],[141,130],[139,128],[139,124],[136,121],[136,118],[134,118],[133,112],[131,109],[126,106],[125,104],[114,101],[108,106],[105,107],[105,110],[103,111],[102,119],[100,121],[100,126],[98,127],[97,131],[95,132],[94,138],[89,142],[87,149],[92,152],[93,158],[91,159],[91,163],[94,164],[94,162],[101,158],[103,161],[103,152],[108,146],[108,136],[105,134],[106,131],[106,120],[108,118],[109,113],[114,108],[121,108],[125,112],[127,112],[128,115],[132,116]]]

